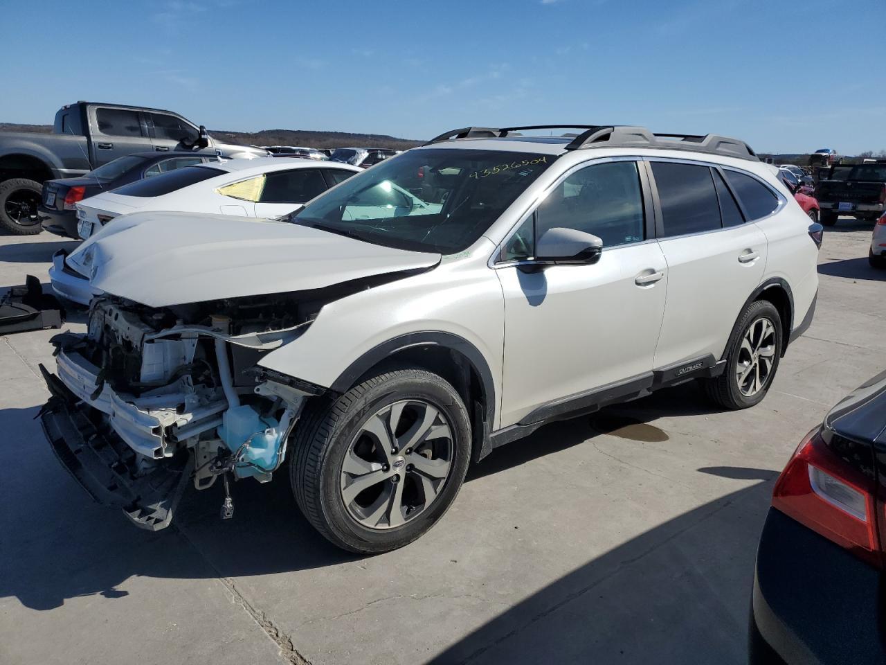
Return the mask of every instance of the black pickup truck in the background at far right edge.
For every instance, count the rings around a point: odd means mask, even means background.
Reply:
[[[839,215],[876,219],[886,209],[886,160],[830,167],[820,174],[815,198],[825,226],[833,226]]]

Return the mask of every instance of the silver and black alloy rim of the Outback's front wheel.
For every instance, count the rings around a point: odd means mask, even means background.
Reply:
[[[433,504],[452,467],[453,430],[419,399],[388,404],[366,419],[348,447],[341,497],[362,526],[400,527]]]

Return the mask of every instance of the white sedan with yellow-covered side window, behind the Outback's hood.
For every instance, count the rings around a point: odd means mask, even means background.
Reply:
[[[278,217],[361,170],[273,157],[179,168],[78,203],[77,232],[85,240],[114,217],[148,210]]]

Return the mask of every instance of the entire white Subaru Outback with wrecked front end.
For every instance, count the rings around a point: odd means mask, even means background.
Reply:
[[[323,536],[385,552],[545,423],[690,379],[762,400],[821,239],[772,169],[724,137],[528,129],[447,132],[273,222],[99,231],[105,295],[43,369],[59,460],[151,529],[187,485],[230,517],[230,481],[285,469]]]

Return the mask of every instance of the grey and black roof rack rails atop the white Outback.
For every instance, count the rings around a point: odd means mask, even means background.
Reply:
[[[431,138],[424,145],[447,141],[452,138],[503,138],[511,132],[525,129],[584,129],[573,138],[566,150],[587,148],[641,147],[659,150],[688,150],[694,153],[712,153],[737,157],[742,160],[758,161],[757,153],[750,145],[737,138],[721,137],[717,134],[653,134],[645,127],[629,125],[525,125],[522,127],[464,127],[452,129]]]

